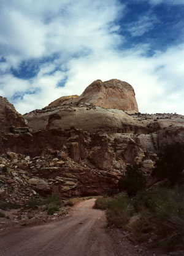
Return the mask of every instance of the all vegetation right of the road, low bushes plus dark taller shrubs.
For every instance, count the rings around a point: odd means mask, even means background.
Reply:
[[[177,143],[160,155],[153,176],[157,181],[166,180],[164,185],[145,189],[140,166],[128,166],[119,182],[123,192],[98,198],[94,207],[106,211],[109,225],[129,231],[139,242],[167,250],[183,249],[183,152],[184,145]]]

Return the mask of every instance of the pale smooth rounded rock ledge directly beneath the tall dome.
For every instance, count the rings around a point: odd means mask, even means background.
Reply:
[[[107,110],[90,103],[71,103],[67,106],[33,111],[25,115],[33,130],[39,129],[77,129],[96,132],[99,130],[120,130],[122,132],[147,130],[147,121],[135,119],[123,110]]]

